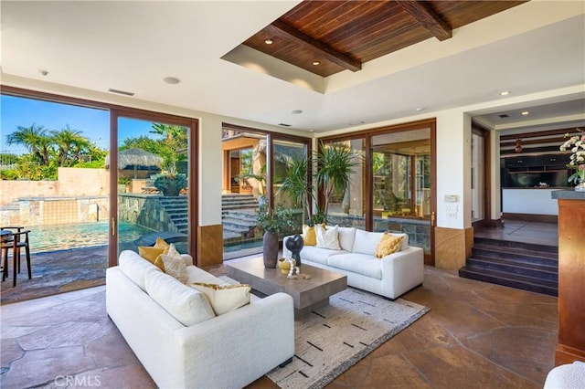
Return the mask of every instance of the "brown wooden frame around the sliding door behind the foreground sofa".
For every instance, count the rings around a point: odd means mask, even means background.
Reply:
[[[150,110],[112,108],[110,110],[110,165],[118,165],[118,120],[120,118],[131,118],[143,121],[163,122],[165,124],[174,124],[189,129],[188,134],[188,190],[187,202],[189,209],[190,227],[187,237],[187,252],[197,258],[197,228],[199,226],[198,218],[198,200],[197,200],[197,151],[198,151],[198,121],[193,118],[186,118],[166,113],[153,112]],[[118,174],[113,171],[110,174],[110,228],[108,245],[109,266],[118,264]]]

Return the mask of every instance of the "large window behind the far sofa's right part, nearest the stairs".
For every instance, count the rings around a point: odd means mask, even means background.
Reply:
[[[333,196],[328,224],[407,233],[433,264],[434,126],[420,121],[325,139],[345,145],[356,161],[346,190]]]

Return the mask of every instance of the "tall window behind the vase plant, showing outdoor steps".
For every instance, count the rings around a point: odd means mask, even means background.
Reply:
[[[303,204],[283,188],[293,163],[307,158],[309,140],[224,123],[222,227],[224,260],[260,253],[262,231],[256,223],[261,202],[293,208],[301,230]],[[308,178],[305,179],[308,184]],[[306,186],[306,184],[305,184]],[[290,233],[293,231],[287,231]]]

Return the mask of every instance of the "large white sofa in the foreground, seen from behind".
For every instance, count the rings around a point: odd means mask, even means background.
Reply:
[[[106,272],[108,315],[159,387],[242,387],[293,357],[289,295],[252,295],[250,304],[215,316],[205,295],[187,285],[226,282],[182,257],[186,284],[129,250]]]

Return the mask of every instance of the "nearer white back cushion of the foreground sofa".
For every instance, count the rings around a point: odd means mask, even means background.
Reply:
[[[160,271],[149,271],[144,277],[146,293],[183,325],[189,327],[215,317],[207,298],[177,279]]]

